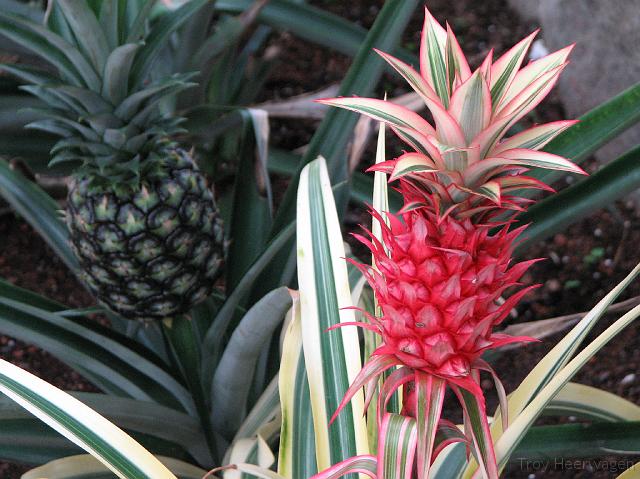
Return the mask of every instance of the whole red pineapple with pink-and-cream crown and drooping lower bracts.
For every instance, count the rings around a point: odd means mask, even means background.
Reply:
[[[449,443],[435,449],[447,388],[459,399],[465,418],[464,436],[452,440],[466,442],[476,452],[485,477],[498,476],[480,372],[496,380],[503,411],[506,397],[482,355],[530,340],[494,328],[535,287],[513,291],[536,261],[513,262],[524,230],[512,228],[514,215],[532,202],[522,195],[524,189],[551,190],[526,174],[530,168],[584,174],[566,158],[540,151],[572,121],[537,125],[506,137],[553,88],[571,51],[567,47],[520,68],[534,36],[535,32],[495,62],[489,52],[472,72],[449,26],[443,28],[425,9],[419,71],[378,53],[424,100],[434,126],[384,100],[320,100],[387,124],[410,147],[372,168],[398,181],[404,207],[397,216],[372,210],[381,233],[358,235],[371,250],[374,266],[354,264],[372,287],[380,314],[365,313],[367,321],[356,324],[381,340],[333,417],[363,386],[368,404],[386,372],[378,424],[385,423],[387,402],[402,388],[402,414],[418,423],[418,478],[428,477],[435,456]],[[510,293],[506,300],[505,293]],[[502,418],[507,420],[506,413]],[[378,464],[378,471],[383,467]],[[349,472],[348,467],[341,470]],[[319,476],[334,473],[332,469]]]

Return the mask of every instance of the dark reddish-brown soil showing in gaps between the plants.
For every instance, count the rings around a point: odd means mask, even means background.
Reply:
[[[355,21],[368,28],[373,23],[382,0],[316,0],[309,3]],[[480,63],[491,48],[503,52],[516,40],[523,38],[536,25],[520,21],[505,5],[504,0],[431,0],[429,8],[438,19],[448,19],[459,35],[462,48],[469,55],[472,66]],[[416,51],[422,12],[417,9],[403,45]],[[544,36],[544,32],[542,32]],[[309,92],[330,83],[339,82],[349,67],[344,55],[319,48],[287,33],[276,33],[270,42],[281,47],[282,57],[278,68],[267,82],[261,100],[274,100]],[[385,75],[378,94],[388,92],[396,96],[407,90],[401,81]],[[532,122],[563,118],[563,111],[552,94],[537,109]],[[314,121],[272,121],[272,144],[280,148],[294,149],[308,143],[317,127]],[[371,150],[364,155],[362,169],[370,162]],[[587,164],[593,171],[595,165]],[[566,185],[556,185],[562,187]],[[346,229],[354,231],[362,222],[361,208],[353,207],[346,219]],[[609,209],[595,212],[593,216],[569,226],[544,242],[527,249],[526,258],[550,258],[531,268],[524,283],[541,283],[542,287],[530,294],[518,307],[518,317],[510,321],[545,319],[568,313],[588,310],[616,285],[638,261],[633,245],[640,242],[636,213],[631,205],[618,203]],[[356,253],[357,246],[353,245]],[[360,251],[362,252],[362,251]],[[523,258],[523,259],[526,259]],[[58,260],[42,239],[22,220],[11,214],[0,216],[0,278],[18,286],[31,289],[70,307],[87,307],[93,299],[85,292],[75,277]],[[640,295],[636,282],[624,298]],[[598,331],[611,323],[614,317],[606,317]],[[625,333],[600,352],[575,378],[577,382],[590,384],[619,394],[635,403],[640,401],[640,324],[631,325]],[[595,333],[594,333],[595,334]],[[593,335],[592,335],[593,336]],[[512,391],[533,365],[562,337],[558,334],[542,343],[510,351],[495,364],[495,369]],[[56,386],[75,391],[93,391],[95,388],[71,371],[64,364],[34,346],[0,337],[0,357],[10,360]],[[490,408],[495,404],[489,392]],[[597,459],[597,458],[596,458]],[[18,478],[27,468],[0,464],[0,476]],[[603,471],[534,471],[511,467],[506,474],[510,478],[533,477],[605,478],[615,474]]]

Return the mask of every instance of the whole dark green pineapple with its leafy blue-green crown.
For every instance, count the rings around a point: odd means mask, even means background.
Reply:
[[[73,161],[66,220],[85,281],[131,319],[184,313],[207,297],[224,256],[222,222],[191,155],[171,141],[180,119],[162,100],[190,75],[152,79],[168,31],[205,1],[149,29],[153,0],[54,0],[45,26],[0,12],[0,33],[55,67],[1,68],[48,104],[29,125],[62,136],[52,163]]]

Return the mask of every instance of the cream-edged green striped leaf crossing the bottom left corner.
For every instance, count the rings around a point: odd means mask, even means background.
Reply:
[[[0,360],[0,391],[95,456],[121,478],[175,478],[121,429],[67,393]]]

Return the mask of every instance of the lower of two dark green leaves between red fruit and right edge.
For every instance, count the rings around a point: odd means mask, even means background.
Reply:
[[[518,216],[531,223],[519,251],[595,213],[640,187],[640,146],[606,164],[590,177],[533,205]]]

